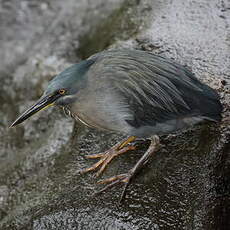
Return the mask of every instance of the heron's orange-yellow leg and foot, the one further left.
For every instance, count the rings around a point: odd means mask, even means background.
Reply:
[[[129,150],[134,150],[135,146],[128,145],[132,141],[134,141],[136,137],[130,136],[128,139],[119,142],[118,144],[114,145],[111,149],[107,150],[104,153],[88,155],[86,158],[95,159],[101,158],[97,163],[95,163],[92,167],[83,169],[81,173],[90,172],[99,168],[98,172],[96,173],[96,177],[100,176],[101,173],[105,170],[107,165],[112,161],[112,159],[118,155],[126,153]]]

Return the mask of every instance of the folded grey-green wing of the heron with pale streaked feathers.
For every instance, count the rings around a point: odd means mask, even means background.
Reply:
[[[215,91],[169,59],[131,50],[107,51],[93,58],[94,75],[109,81],[122,104],[128,105],[132,119],[126,121],[132,127],[219,112]]]

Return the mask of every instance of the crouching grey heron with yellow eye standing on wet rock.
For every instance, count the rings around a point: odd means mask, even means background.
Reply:
[[[152,52],[105,50],[55,76],[41,98],[19,116],[16,126],[50,106],[63,108],[86,126],[127,136],[109,150],[87,155],[99,159],[82,173],[99,177],[113,158],[135,150],[135,141],[150,145],[127,173],[101,180],[106,191],[124,184],[123,200],[131,180],[160,148],[160,137],[203,122],[220,122],[223,107],[217,92],[187,67]],[[133,144],[134,143],[134,144]]]

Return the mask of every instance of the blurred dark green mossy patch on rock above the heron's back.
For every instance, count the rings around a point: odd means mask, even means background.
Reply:
[[[139,0],[127,0],[120,8],[80,38],[78,56],[82,59],[104,50],[117,40],[126,40],[139,31],[141,17],[137,17]]]

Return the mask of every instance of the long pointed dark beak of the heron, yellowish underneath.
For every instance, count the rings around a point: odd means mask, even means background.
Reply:
[[[35,113],[54,105],[54,101],[56,101],[60,97],[60,94],[56,95],[46,95],[41,97],[34,105],[32,105],[28,110],[26,110],[21,116],[19,116],[10,127],[18,125],[25,121],[27,118],[31,117]]]

